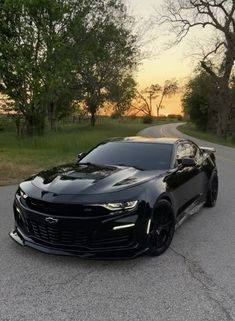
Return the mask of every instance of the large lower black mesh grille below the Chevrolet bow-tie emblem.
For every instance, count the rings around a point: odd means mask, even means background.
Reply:
[[[88,234],[79,230],[66,230],[58,227],[28,220],[30,234],[41,241],[55,245],[85,246],[88,243]]]

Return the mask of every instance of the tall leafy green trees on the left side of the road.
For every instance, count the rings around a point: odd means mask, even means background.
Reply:
[[[0,20],[0,92],[27,134],[75,106],[92,125],[107,103],[125,111],[139,51],[121,0],[0,0]]]

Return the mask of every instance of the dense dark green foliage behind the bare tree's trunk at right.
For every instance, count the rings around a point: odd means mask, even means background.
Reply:
[[[217,136],[235,135],[235,75],[229,81],[225,94],[205,70],[199,69],[186,85],[183,96],[184,113],[199,129]],[[225,115],[223,115],[225,113]],[[221,115],[222,114],[222,115]],[[226,121],[221,121],[226,116]],[[222,134],[221,134],[222,132]]]

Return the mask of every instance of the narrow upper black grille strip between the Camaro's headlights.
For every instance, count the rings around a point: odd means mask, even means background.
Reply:
[[[100,206],[85,206],[82,204],[50,203],[28,197],[25,200],[28,208],[48,215],[97,217],[107,215],[108,210]]]

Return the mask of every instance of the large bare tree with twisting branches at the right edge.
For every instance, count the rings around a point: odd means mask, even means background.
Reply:
[[[234,0],[165,0],[160,24],[167,23],[180,43],[195,27],[210,28],[217,32],[214,48],[201,59],[201,67],[217,87],[217,135],[226,137],[229,115],[233,108],[229,82],[235,60],[235,2]],[[221,60],[213,68],[212,55]]]

